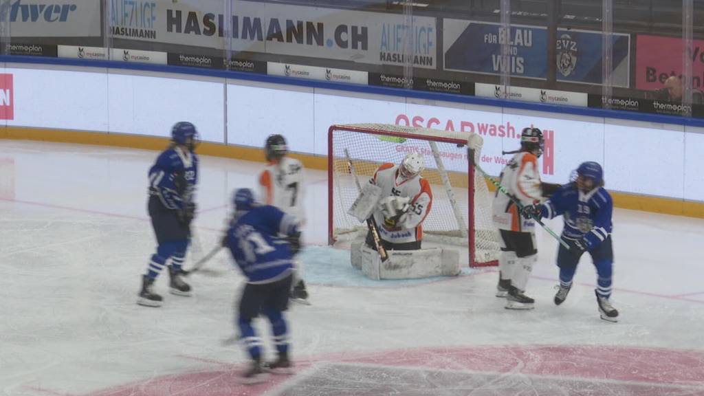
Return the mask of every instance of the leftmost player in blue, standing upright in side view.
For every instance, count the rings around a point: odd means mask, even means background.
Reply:
[[[170,292],[191,295],[191,286],[183,280],[182,265],[196,211],[194,193],[198,181],[198,157],[194,150],[197,143],[198,132],[193,124],[176,123],[171,128],[170,146],[149,168],[149,217],[158,247],[142,276],[137,304],[161,307],[162,297],[153,291],[153,284],[169,260]]]

